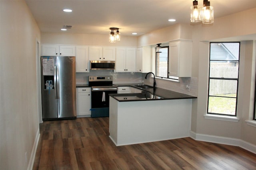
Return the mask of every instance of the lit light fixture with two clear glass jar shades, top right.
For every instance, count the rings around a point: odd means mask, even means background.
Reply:
[[[198,6],[198,1],[193,1],[193,6],[190,7],[190,21],[191,22],[200,22],[203,24],[213,23],[213,7],[210,6],[210,1],[203,0],[203,7]]]

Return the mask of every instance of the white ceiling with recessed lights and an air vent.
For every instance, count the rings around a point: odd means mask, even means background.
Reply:
[[[256,8],[256,0],[209,0],[214,18]],[[175,23],[190,23],[193,0],[26,0],[42,32],[110,34],[110,27],[121,35],[142,35]],[[202,6],[203,0],[198,0]],[[65,13],[65,8],[73,12]],[[168,19],[176,19],[170,22]],[[138,36],[137,35],[137,36]]]

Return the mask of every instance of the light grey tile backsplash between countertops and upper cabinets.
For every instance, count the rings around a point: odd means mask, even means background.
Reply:
[[[153,78],[145,79],[146,73],[139,72],[114,72],[114,70],[90,70],[88,73],[76,73],[76,84],[88,84],[88,76],[113,76],[114,84],[122,83],[145,83],[152,85]],[[182,77],[179,82],[156,79],[156,87],[180,92],[192,96],[198,94],[198,78],[197,77]]]

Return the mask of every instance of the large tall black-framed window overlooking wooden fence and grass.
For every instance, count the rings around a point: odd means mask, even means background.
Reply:
[[[239,42],[210,43],[208,114],[236,116]]]

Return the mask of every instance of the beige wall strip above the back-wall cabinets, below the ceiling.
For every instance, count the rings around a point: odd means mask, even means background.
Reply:
[[[41,44],[137,47],[137,37],[132,36],[121,35],[121,40],[116,43],[109,43],[108,35],[43,32],[41,36]]]

